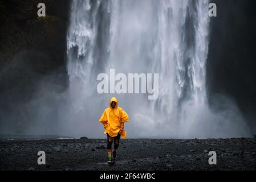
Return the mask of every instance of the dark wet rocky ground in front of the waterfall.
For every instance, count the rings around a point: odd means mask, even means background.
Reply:
[[[39,165],[38,151],[46,153]],[[209,151],[217,164],[209,165]],[[106,139],[1,140],[0,170],[255,170],[256,139],[121,139],[107,164]]]

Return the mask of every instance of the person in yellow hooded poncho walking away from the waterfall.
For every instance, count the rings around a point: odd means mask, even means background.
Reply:
[[[107,154],[108,163],[113,164],[116,160],[116,150],[119,146],[120,137],[126,138],[126,131],[124,130],[124,122],[128,122],[128,114],[118,106],[116,97],[112,97],[109,101],[109,107],[104,110],[100,123],[103,123],[104,134],[107,134]],[[112,151],[112,143],[114,147]]]

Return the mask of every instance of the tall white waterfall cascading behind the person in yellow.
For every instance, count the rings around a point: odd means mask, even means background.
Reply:
[[[205,84],[208,4],[208,0],[72,1],[67,35],[74,114],[70,127],[99,137],[97,120],[116,96],[131,119],[125,126],[128,137],[217,136],[218,122],[202,117],[210,112]],[[159,97],[97,93],[97,75],[109,74],[110,68],[124,74],[159,73]],[[229,136],[222,133],[221,137]]]

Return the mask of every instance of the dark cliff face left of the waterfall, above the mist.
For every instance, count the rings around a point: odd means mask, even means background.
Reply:
[[[46,17],[37,15],[39,2],[46,5]],[[26,97],[40,77],[56,71],[66,75],[69,3],[0,2],[0,97]],[[59,84],[65,80],[63,77]]]

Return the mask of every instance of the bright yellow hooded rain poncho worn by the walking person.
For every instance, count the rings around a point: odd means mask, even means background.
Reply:
[[[115,108],[111,107],[111,102],[115,101]],[[116,137],[120,131],[120,136],[126,138],[126,132],[124,130],[124,122],[129,121],[128,114],[118,106],[116,97],[112,97],[109,101],[109,107],[104,110],[99,122],[104,125],[104,134],[109,134],[110,137]]]

